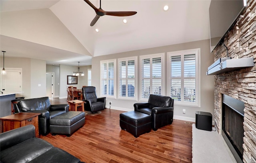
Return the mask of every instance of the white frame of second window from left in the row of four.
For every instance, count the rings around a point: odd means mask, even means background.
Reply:
[[[138,89],[138,74],[137,74],[137,70],[138,70],[138,64],[137,64],[137,56],[135,56],[135,57],[124,57],[124,58],[118,58],[118,61],[117,61],[117,71],[118,71],[118,77],[117,77],[117,80],[118,80],[118,84],[117,84],[117,86],[118,86],[118,88],[117,88],[117,98],[118,99],[122,99],[122,100],[133,100],[133,101],[138,101],[138,91],[137,91],[137,89]],[[120,91],[120,80],[122,79],[122,80],[126,80],[126,82],[127,82],[127,80],[129,80],[129,78],[127,77],[127,69],[126,69],[126,78],[120,78],[120,67],[119,67],[119,64],[120,64],[120,62],[122,62],[122,61],[126,61],[126,63],[128,62],[128,61],[133,61],[134,60],[134,97],[128,97],[128,96],[120,96],[120,94],[119,94],[119,91]],[[126,68],[127,68],[127,65],[126,65]],[[127,83],[126,83],[127,84]]]

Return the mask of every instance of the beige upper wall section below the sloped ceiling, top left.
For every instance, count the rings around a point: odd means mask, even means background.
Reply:
[[[0,16],[1,35],[90,55],[50,9],[1,12]]]

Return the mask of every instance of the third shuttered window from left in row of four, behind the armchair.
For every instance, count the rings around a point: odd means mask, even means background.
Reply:
[[[162,95],[164,90],[164,53],[140,56],[140,100],[150,94]]]

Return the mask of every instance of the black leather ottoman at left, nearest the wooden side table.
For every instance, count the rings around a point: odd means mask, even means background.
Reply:
[[[85,113],[69,111],[50,119],[50,132],[52,135],[71,134],[84,125]]]

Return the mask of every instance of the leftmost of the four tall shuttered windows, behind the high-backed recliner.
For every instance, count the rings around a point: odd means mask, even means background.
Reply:
[[[115,98],[115,63],[116,60],[100,61],[100,94]]]

